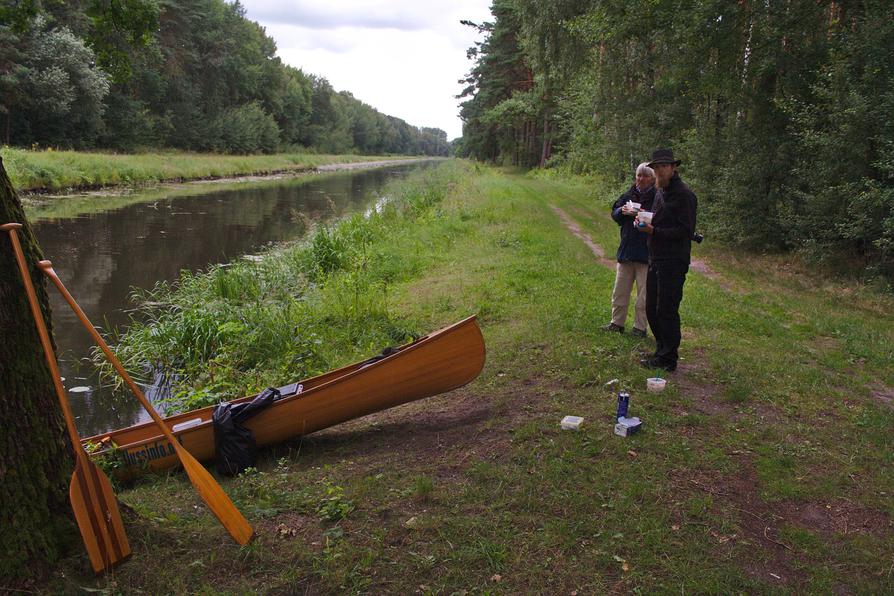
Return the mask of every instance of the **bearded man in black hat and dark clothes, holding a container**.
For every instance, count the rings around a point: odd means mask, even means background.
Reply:
[[[646,317],[655,335],[655,353],[640,364],[647,368],[676,370],[680,348],[680,302],[689,271],[692,235],[698,199],[677,174],[679,159],[670,149],[652,153],[655,171],[652,222],[641,225],[650,234],[649,274],[646,282]]]

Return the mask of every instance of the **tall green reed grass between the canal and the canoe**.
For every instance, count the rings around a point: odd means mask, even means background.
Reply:
[[[390,200],[311,230],[301,241],[138,292],[115,348],[130,370],[174,373],[168,412],[276,386],[368,357],[415,329],[388,307],[412,255],[381,248],[436,205],[468,166],[447,162],[386,188]]]

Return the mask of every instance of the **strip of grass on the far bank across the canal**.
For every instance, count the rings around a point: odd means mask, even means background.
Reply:
[[[108,154],[29,151],[3,147],[3,165],[19,192],[63,191],[163,181],[198,180],[312,170],[333,163],[401,159],[369,155]]]

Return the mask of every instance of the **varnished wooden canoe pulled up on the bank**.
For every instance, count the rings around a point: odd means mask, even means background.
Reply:
[[[282,397],[245,423],[258,445],[271,445],[340,422],[444,393],[472,381],[484,367],[485,349],[476,317],[403,345],[375,362],[358,362],[280,387]],[[232,403],[250,401],[254,395]],[[214,406],[165,418],[174,436],[199,461],[214,458]],[[120,475],[160,471],[178,463],[170,442],[153,422],[84,439],[115,446]],[[107,448],[94,457],[110,455]]]

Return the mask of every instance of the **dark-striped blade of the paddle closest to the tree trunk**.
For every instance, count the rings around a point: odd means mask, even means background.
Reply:
[[[77,458],[68,496],[93,571],[102,573],[126,560],[130,544],[112,484],[86,457]]]

